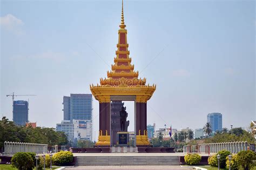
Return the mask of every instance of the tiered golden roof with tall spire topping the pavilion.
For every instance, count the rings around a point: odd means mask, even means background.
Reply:
[[[100,78],[100,85],[90,85],[90,90],[100,103],[110,102],[112,95],[133,95],[136,96],[136,102],[146,103],[156,90],[156,85],[145,85],[146,78],[138,78],[139,72],[134,71],[134,65],[131,64],[123,2],[119,27],[116,57],[114,57],[114,64],[111,65],[111,71],[107,71],[107,78]]]

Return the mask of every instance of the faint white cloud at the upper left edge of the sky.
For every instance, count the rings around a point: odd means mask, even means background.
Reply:
[[[9,13],[3,17],[0,17],[0,25],[2,28],[8,31],[21,34],[21,26],[24,25],[24,23],[21,19],[18,19]]]

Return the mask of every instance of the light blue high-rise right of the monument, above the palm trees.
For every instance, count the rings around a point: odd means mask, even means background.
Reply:
[[[222,130],[222,114],[221,113],[207,114],[207,122],[210,123],[212,132]]]

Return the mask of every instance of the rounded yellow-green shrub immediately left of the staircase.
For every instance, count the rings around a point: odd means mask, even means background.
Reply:
[[[68,165],[73,161],[73,154],[69,151],[60,151],[52,156],[52,161],[56,165]]]

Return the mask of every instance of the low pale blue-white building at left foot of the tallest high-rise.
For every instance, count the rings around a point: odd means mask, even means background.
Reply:
[[[58,132],[64,132],[68,135],[68,141],[73,142],[74,140],[74,125],[70,120],[62,120],[61,124],[56,125]]]

